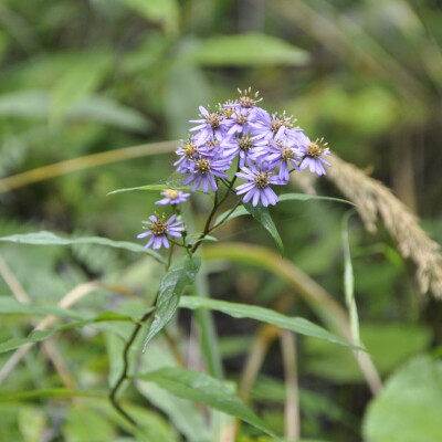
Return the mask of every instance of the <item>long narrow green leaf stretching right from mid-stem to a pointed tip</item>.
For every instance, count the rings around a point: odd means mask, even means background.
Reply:
[[[190,309],[209,308],[212,311],[225,313],[227,315],[233,316],[235,318],[256,319],[263,323],[276,325],[277,327],[285,328],[287,330],[295,332],[299,335],[326,339],[333,344],[339,344],[345,347],[358,348],[350,343],[347,343],[346,340],[327,332],[325,328],[311,323],[307,319],[285,316],[270,308],[259,307],[256,305],[229,303],[227,301],[219,301],[200,296],[185,296],[180,301],[180,307]]]

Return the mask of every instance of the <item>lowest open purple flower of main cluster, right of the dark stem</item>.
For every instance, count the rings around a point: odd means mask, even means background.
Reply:
[[[259,168],[253,164],[250,164],[249,167],[243,167],[242,171],[236,173],[236,177],[248,181],[236,187],[236,194],[245,193],[243,202],[249,202],[253,198],[253,207],[256,207],[260,200],[264,207],[269,204],[275,206],[278,198],[270,185],[286,185],[286,182],[278,177],[272,176],[271,169],[265,162],[262,162]]]

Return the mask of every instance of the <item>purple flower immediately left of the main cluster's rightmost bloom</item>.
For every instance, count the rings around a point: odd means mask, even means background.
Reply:
[[[280,166],[280,178],[288,181],[290,167],[299,170],[297,162],[303,156],[302,149],[296,145],[295,139],[284,136],[284,131],[280,129],[275,139],[271,140],[267,148],[265,159],[271,167]]]

